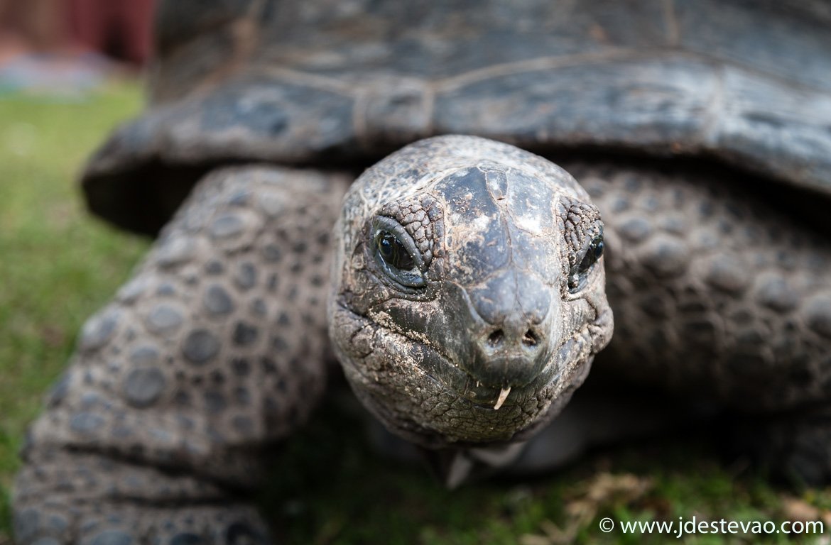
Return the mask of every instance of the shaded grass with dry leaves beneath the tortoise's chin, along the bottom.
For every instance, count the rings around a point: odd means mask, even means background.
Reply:
[[[356,423],[324,411],[275,461],[266,511],[284,543],[828,543],[829,493],[774,489],[722,464],[705,435],[675,436],[596,453],[558,474],[496,479],[455,491],[425,469],[373,454]],[[352,430],[352,431],[345,431]],[[602,533],[622,521],[821,520],[822,534]]]

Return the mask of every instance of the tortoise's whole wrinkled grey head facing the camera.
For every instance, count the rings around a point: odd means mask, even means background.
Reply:
[[[337,356],[361,402],[416,444],[528,439],[612,336],[597,209],[524,150],[416,142],[361,175],[335,232]]]

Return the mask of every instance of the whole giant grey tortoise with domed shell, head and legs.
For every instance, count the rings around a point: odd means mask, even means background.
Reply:
[[[660,425],[567,407],[598,352],[617,395],[747,416],[745,448],[829,480],[829,25],[821,0],[160,2],[150,106],[83,174],[158,239],[32,425],[18,543],[269,543],[246,491],[336,357],[449,484]]]

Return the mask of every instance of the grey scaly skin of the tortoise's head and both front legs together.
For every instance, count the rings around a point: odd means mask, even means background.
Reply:
[[[774,462],[828,479],[828,244],[716,183],[569,168],[601,214],[562,169],[473,137],[425,140],[381,161],[340,216],[348,180],[337,174],[247,167],[203,179],[135,278],[87,323],[33,425],[17,542],[269,543],[242,494],[259,484],[268,445],[322,393],[330,289],[334,349],[391,430],[461,451],[529,439],[609,341],[604,263],[618,322],[640,329],[617,335],[619,363],[598,361],[595,372],[625,370],[740,410],[787,409],[792,419],[770,427]],[[609,252],[582,268],[601,215]],[[406,255],[388,263],[384,240]],[[754,266],[737,272],[735,259]],[[725,320],[730,309],[750,322]],[[638,312],[666,316],[637,322]],[[780,323],[787,335],[775,334]],[[762,338],[742,341],[754,324]],[[657,332],[688,344],[641,354]],[[696,353],[702,345],[711,351]],[[764,365],[740,366],[749,346]],[[807,381],[784,371],[799,361]],[[780,380],[741,390],[749,372]],[[805,401],[817,410],[800,412]]]

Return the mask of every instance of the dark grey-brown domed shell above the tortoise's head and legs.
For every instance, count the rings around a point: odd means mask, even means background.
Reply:
[[[831,195],[823,0],[168,0],[150,106],[83,175],[157,233],[207,170],[364,167],[448,133],[709,157]]]

